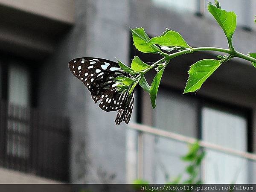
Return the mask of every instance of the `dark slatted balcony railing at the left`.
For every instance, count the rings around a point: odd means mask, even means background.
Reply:
[[[0,166],[68,182],[69,140],[67,118],[0,102]]]

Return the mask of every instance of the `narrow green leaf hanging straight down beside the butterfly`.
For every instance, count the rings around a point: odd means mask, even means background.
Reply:
[[[152,81],[152,84],[151,84],[150,91],[149,91],[150,99],[151,99],[151,105],[152,105],[153,108],[156,107],[157,92],[158,92],[158,88],[159,88],[159,85],[160,85],[161,78],[163,76],[163,70],[164,69],[165,69],[165,67],[163,67],[163,69],[161,69],[157,73],[157,75],[154,77],[154,79]]]

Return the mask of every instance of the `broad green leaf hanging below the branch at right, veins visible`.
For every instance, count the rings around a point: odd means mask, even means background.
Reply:
[[[195,92],[200,89],[204,81],[220,67],[220,62],[221,60],[204,59],[190,66],[188,72],[189,79],[186,83],[184,93]]]

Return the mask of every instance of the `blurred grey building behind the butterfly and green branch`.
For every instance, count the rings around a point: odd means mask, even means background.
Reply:
[[[238,16],[234,47],[256,52],[256,1],[220,3]],[[156,109],[137,87],[131,122],[121,126],[68,68],[81,56],[156,61],[135,51],[129,27],[150,36],[169,28],[192,47],[227,48],[206,7],[205,0],[0,0],[0,183],[166,183],[186,169],[180,157],[193,139],[206,152],[196,175],[203,183],[256,183],[250,62],[233,59],[196,95],[183,95],[189,66],[216,52],[175,58]],[[147,75],[151,82],[155,73]]]

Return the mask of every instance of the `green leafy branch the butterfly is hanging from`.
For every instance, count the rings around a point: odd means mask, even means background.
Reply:
[[[155,108],[155,100],[160,85],[160,81],[163,75],[163,71],[169,61],[172,58],[175,58],[184,54],[192,54],[193,52],[200,51],[211,51],[211,52],[221,52],[223,55],[217,55],[218,59],[203,59],[196,62],[188,71],[189,79],[186,83],[184,93],[195,92],[201,88],[202,84],[218,69],[221,67],[221,64],[229,61],[232,58],[241,58],[246,61],[252,62],[253,66],[256,67],[256,53],[249,53],[245,55],[241,52],[236,51],[233,47],[233,34],[236,30],[236,14],[234,12],[227,12],[224,9],[221,9],[221,6],[218,0],[215,0],[215,5],[209,3],[208,10],[215,18],[216,22],[223,29],[224,35],[227,38],[227,44],[229,49],[223,49],[218,47],[191,47],[184,38],[175,31],[166,29],[162,35],[149,38],[145,33],[143,28],[131,29],[133,35],[134,46],[140,52],[144,53],[154,53],[161,55],[163,58],[158,60],[152,65],[145,64],[140,58],[135,57],[132,61],[131,68],[124,66],[119,62],[120,67],[125,70],[127,73],[130,73],[132,79],[123,79],[122,83],[126,87],[130,86],[130,92],[133,89],[133,84],[139,84],[141,87],[149,92],[151,98],[152,107]],[[165,52],[163,52],[165,50]],[[171,53],[172,51],[176,51]],[[166,53],[167,52],[167,53]],[[154,77],[151,87],[147,83],[144,75],[149,70],[155,69],[157,71],[156,76]],[[129,82],[129,83],[128,83]],[[122,87],[122,84],[119,87]],[[120,89],[122,90],[122,89]]]

